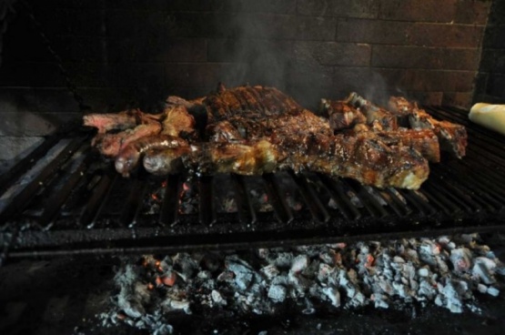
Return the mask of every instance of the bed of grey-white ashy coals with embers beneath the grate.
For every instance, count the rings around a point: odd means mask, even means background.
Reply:
[[[414,302],[478,312],[476,295],[498,296],[505,274],[479,240],[472,234],[128,259],[116,273],[112,310],[102,318],[166,334],[167,318],[177,313],[269,315],[286,303],[305,314]]]

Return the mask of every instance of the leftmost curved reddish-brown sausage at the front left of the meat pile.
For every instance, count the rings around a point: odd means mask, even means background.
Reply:
[[[187,147],[187,141],[181,137],[170,135],[147,136],[130,141],[116,157],[116,171],[123,176],[129,176],[130,172],[137,166],[141,156],[147,150],[156,150],[174,147]]]

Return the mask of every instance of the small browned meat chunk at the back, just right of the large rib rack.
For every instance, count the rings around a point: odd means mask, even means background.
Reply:
[[[328,116],[329,127],[333,130],[347,129],[367,122],[367,117],[358,108],[344,101],[321,99],[319,111]]]

